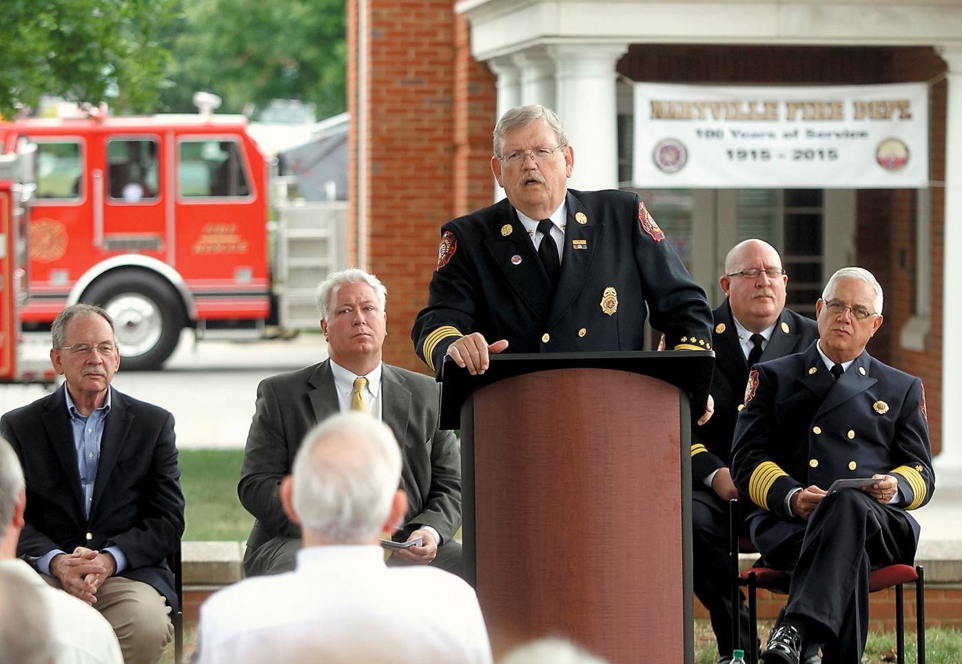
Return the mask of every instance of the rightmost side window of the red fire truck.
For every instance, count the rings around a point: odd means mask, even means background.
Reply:
[[[235,139],[182,140],[177,187],[181,198],[250,195],[239,142]]]

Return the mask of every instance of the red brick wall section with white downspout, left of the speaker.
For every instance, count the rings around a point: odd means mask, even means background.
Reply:
[[[411,326],[442,224],[491,201],[494,83],[453,0],[347,5],[350,223],[357,236],[363,220],[367,248],[357,262],[388,287],[385,361],[426,372]]]

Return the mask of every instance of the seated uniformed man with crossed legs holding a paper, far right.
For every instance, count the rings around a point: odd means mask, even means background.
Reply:
[[[824,664],[861,661],[869,574],[912,564],[919,524],[908,510],[935,488],[922,381],[865,350],[882,324],[881,286],[843,268],[816,311],[818,343],[752,368],[732,447],[735,484],[757,505],[751,539],[768,565],[792,571],[767,664],[797,664],[806,644],[822,644]],[[835,480],[861,485],[829,493]]]

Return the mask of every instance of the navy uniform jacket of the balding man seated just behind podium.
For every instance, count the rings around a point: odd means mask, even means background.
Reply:
[[[745,401],[745,384],[748,380],[748,360],[742,351],[728,300],[713,314],[715,373],[712,375],[711,395],[715,400],[715,414],[700,427],[692,427],[692,482],[696,486],[719,468],[728,465],[731,441],[735,434],[735,418]],[[759,361],[800,353],[817,338],[818,323],[784,308]]]

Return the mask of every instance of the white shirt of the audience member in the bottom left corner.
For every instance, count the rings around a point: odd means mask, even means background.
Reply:
[[[49,585],[23,560],[0,560],[0,569],[24,578],[47,605],[56,664],[123,664],[114,628],[87,603]]]

